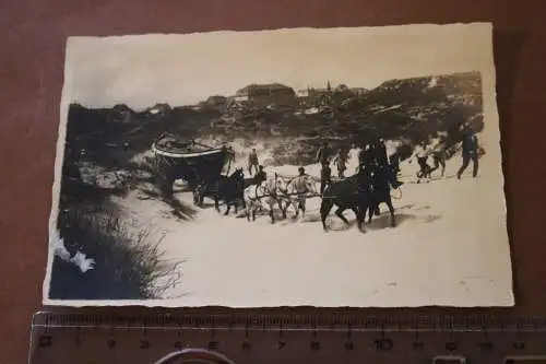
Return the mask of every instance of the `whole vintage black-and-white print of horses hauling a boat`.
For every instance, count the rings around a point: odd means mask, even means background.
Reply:
[[[70,37],[44,303],[513,305],[491,35]]]

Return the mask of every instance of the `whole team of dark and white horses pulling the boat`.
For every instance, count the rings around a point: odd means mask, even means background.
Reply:
[[[394,208],[391,201],[389,175],[381,169],[359,169],[355,175],[330,183],[323,192],[318,193],[316,179],[305,173],[302,167],[296,177],[284,177],[275,173],[264,180],[245,178],[244,169],[237,168],[229,176],[221,175],[214,184],[200,187],[200,201],[204,197],[214,199],[216,211],[219,212],[219,201],[226,206],[224,215],[228,215],[232,207],[237,213],[242,206],[248,221],[256,221],[258,212],[266,212],[271,223],[275,223],[274,210],[277,207],[282,219],[287,218],[287,210],[294,209],[293,218],[299,212],[305,215],[306,200],[309,197],[321,197],[320,218],[323,230],[327,232],[327,218],[335,206],[335,215],[345,224],[349,224],[343,212],[354,211],[358,228],[365,232],[366,214],[369,222],[375,214],[379,214],[379,203],[387,203],[391,214],[391,226],[395,226]]]

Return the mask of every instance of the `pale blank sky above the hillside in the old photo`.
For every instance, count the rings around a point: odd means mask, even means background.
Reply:
[[[488,71],[490,27],[405,25],[71,37],[66,102],[191,105],[251,83],[372,89],[400,78]]]

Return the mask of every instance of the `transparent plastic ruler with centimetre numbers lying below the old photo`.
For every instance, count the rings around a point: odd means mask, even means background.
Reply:
[[[31,364],[546,363],[546,318],[38,313]]]

